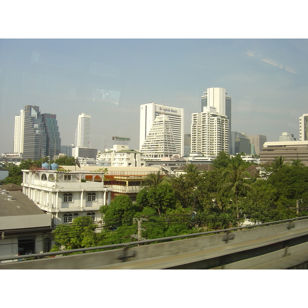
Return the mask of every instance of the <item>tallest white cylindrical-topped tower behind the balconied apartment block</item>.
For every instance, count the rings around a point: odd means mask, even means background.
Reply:
[[[229,120],[229,150],[231,150],[231,98],[223,88],[207,88],[201,97],[201,112],[204,107],[215,107],[216,112],[226,115]]]

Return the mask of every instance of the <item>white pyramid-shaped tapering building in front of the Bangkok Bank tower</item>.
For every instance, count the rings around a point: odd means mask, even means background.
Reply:
[[[177,146],[166,114],[155,118],[140,151],[144,159],[161,159],[177,154]]]

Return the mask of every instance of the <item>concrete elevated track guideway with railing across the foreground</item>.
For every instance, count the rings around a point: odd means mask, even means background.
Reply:
[[[46,258],[94,248],[111,250]],[[308,217],[36,254],[31,257],[42,259],[17,262],[27,257],[0,257],[0,269],[301,269],[308,262]]]

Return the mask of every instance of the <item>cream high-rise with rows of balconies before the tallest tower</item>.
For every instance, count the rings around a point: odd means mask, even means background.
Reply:
[[[229,120],[216,112],[215,107],[204,107],[201,113],[191,115],[191,153],[204,156],[229,152]]]

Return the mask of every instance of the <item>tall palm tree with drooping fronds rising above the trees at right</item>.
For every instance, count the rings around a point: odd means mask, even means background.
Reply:
[[[225,180],[225,183],[220,187],[217,199],[219,200],[225,191],[228,192],[230,196],[234,197],[237,211],[237,225],[239,227],[239,197],[245,196],[248,191],[254,192],[255,190],[253,186],[243,182],[243,179],[251,178],[251,175],[248,171],[244,170],[243,165],[234,163],[228,165],[228,168],[223,171],[222,176]]]

